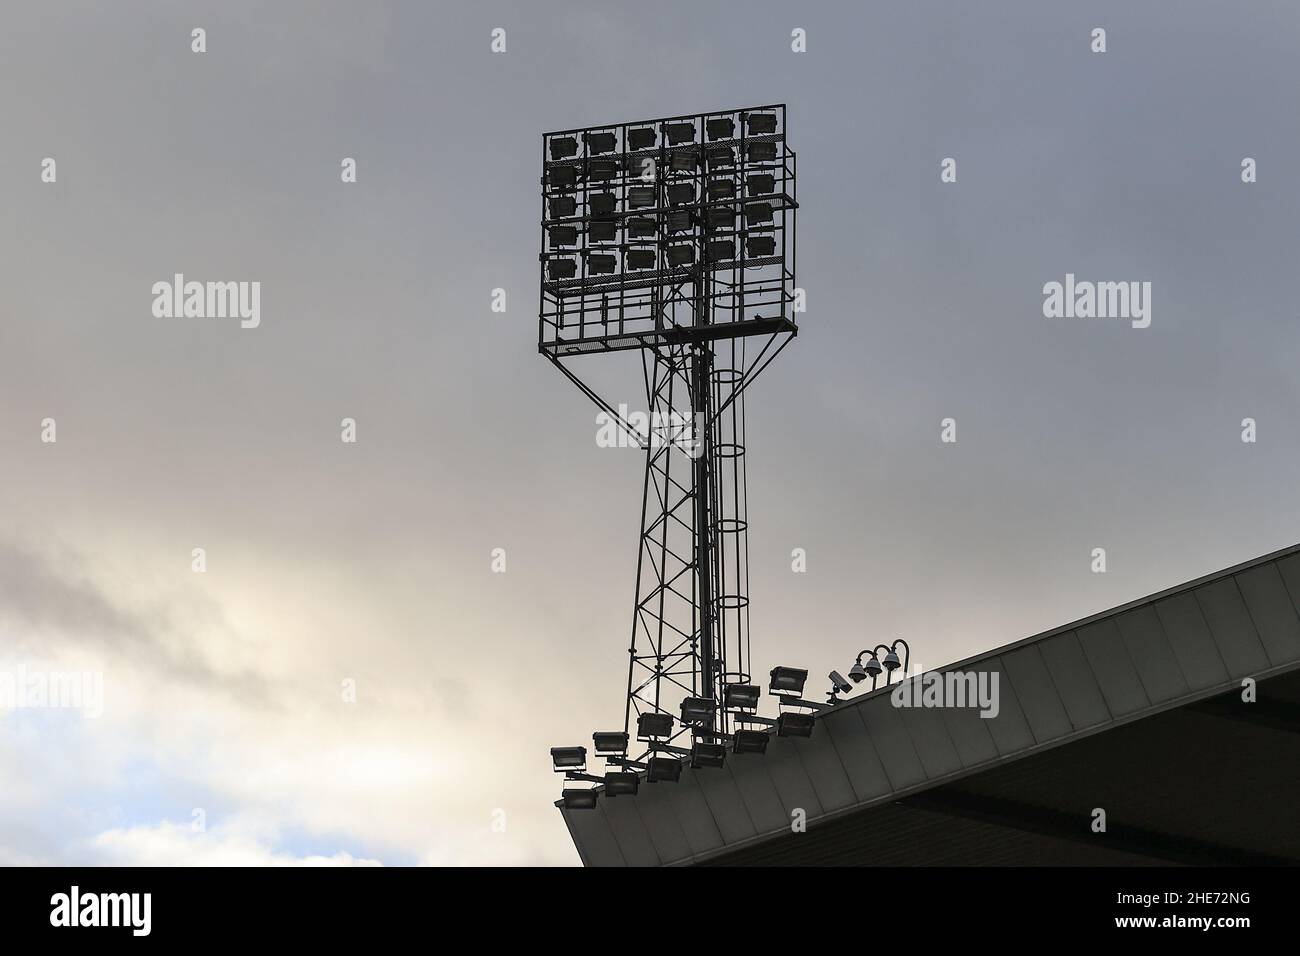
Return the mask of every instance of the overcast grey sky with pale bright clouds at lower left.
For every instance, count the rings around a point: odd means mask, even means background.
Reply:
[[[547,748],[621,719],[642,460],[536,351],[545,130],[788,104],[758,671],[939,666],[1300,540],[1295,4],[0,16],[0,667],[105,698],[0,714],[0,862],[577,862]],[[177,272],[259,281],[259,328],[153,316]],[[1044,317],[1066,273],[1149,281],[1150,326]]]

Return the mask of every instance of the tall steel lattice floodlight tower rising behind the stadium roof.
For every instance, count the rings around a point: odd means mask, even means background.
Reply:
[[[623,727],[645,749],[607,760],[650,779],[682,735],[760,721],[724,698],[751,682],[744,393],[798,332],[786,131],[770,105],[542,137],[538,350],[646,455]],[[578,371],[632,351],[644,416]]]

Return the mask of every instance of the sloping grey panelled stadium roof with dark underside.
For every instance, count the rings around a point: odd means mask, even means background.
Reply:
[[[881,688],[562,813],[588,866],[1296,864],[1297,606],[1300,545],[942,669],[996,671],[996,717]]]

